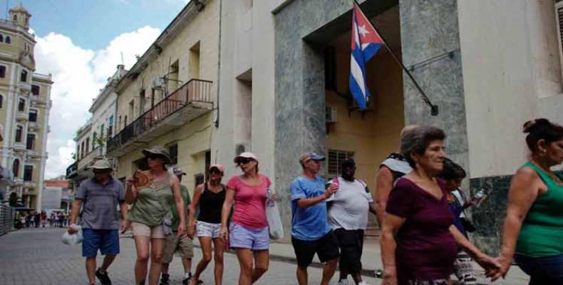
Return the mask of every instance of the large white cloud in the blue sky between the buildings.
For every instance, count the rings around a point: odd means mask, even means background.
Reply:
[[[36,37],[37,72],[53,74],[55,82],[51,89],[46,178],[65,174],[66,167],[73,162],[76,130],[86,122],[93,98],[121,63],[121,53],[125,68],[130,68],[135,63],[135,54],[143,54],[159,34],[158,28],[145,26],[115,37],[99,51],[76,46],[71,38],[59,33]]]

